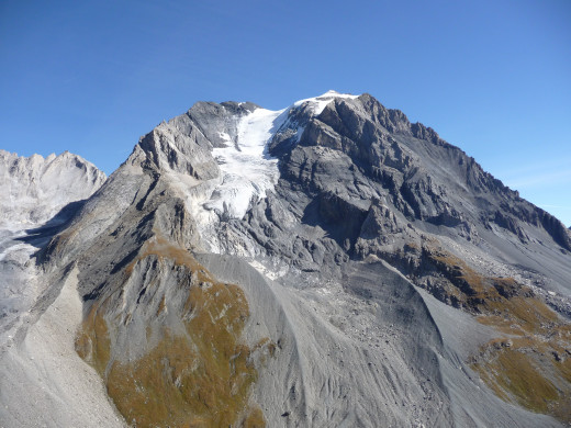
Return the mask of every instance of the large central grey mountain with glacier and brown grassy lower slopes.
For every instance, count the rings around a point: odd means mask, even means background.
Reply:
[[[571,420],[570,230],[369,94],[199,102],[68,211],[7,426]]]

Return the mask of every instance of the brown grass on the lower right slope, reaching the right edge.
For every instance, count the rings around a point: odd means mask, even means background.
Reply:
[[[571,421],[571,325],[513,278],[478,273],[441,249],[425,256],[451,286],[444,290],[510,338],[496,338],[472,357],[472,368],[502,399]],[[562,361],[557,361],[559,352]]]

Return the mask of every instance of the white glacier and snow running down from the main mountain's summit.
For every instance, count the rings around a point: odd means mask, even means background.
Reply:
[[[335,99],[357,97],[328,91],[318,97],[300,100],[282,110],[258,108],[246,115],[229,119],[229,126],[217,133],[224,142],[224,147],[212,149],[212,156],[220,166],[221,177],[203,183],[200,189],[194,188],[192,192],[183,189],[193,185],[180,183],[203,243],[210,251],[249,255],[248,248],[234,245],[233,250],[223,248],[217,238],[216,228],[220,222],[216,219],[243,218],[250,204],[267,198],[268,192],[273,191],[279,179],[278,159],[268,154],[268,145],[276,133],[286,128],[296,129],[296,140],[300,139],[303,127],[290,123],[292,111],[303,105],[309,106],[310,115],[317,115]]]

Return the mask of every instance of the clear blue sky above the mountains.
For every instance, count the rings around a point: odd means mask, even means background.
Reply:
[[[571,1],[0,1],[0,148],[111,173],[195,101],[369,92],[571,225]]]

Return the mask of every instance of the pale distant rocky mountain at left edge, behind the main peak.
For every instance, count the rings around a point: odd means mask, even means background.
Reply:
[[[0,150],[0,343],[42,294],[30,258],[104,181],[102,171],[68,151],[25,158]]]

